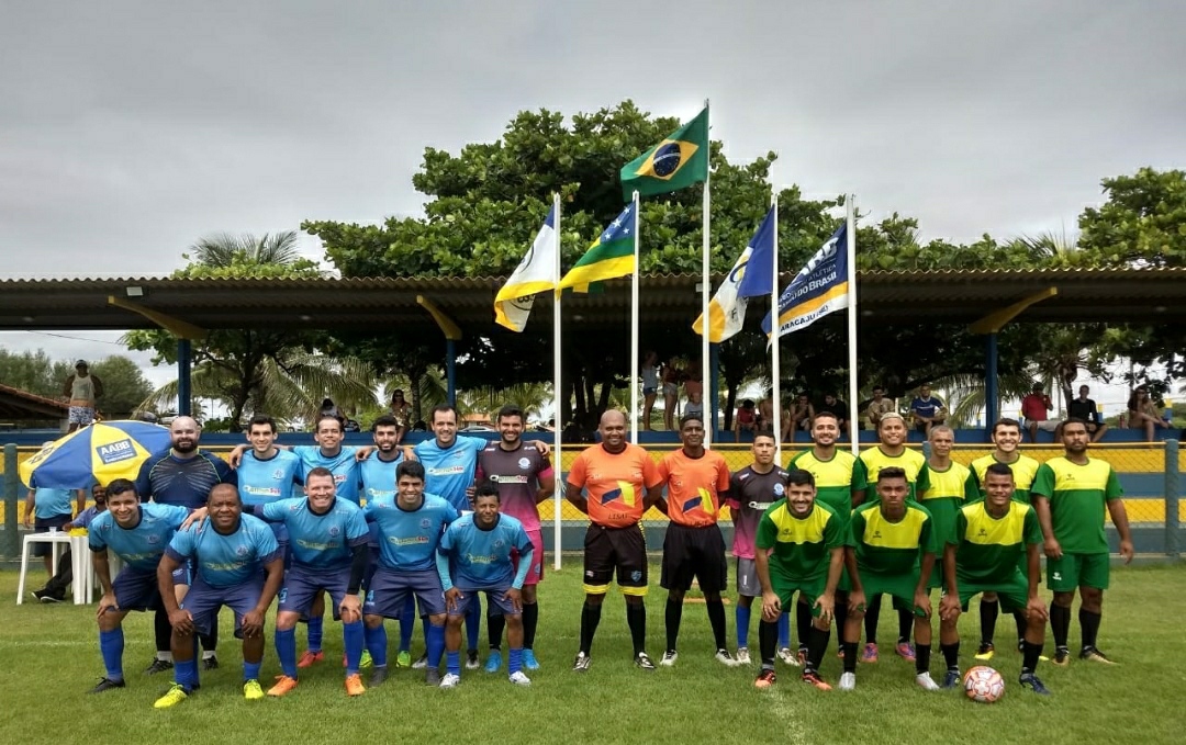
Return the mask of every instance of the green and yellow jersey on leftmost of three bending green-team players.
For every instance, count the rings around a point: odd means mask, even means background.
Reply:
[[[755,545],[770,554],[770,582],[802,586],[828,576],[831,550],[844,545],[844,521],[828,505],[816,502],[805,518],[796,518],[785,499],[763,513]]]

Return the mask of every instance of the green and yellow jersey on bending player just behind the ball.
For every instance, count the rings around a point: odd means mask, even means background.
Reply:
[[[1038,513],[1016,501],[1010,501],[1009,510],[1000,518],[989,514],[984,502],[965,505],[956,513],[952,538],[956,580],[981,586],[1014,582],[1026,546],[1042,541]]]

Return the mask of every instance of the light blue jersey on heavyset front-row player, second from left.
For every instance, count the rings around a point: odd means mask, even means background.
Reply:
[[[282,554],[268,524],[242,515],[238,528],[223,535],[206,520],[198,531],[180,531],[165,552],[177,561],[193,559],[198,577],[212,587],[241,585],[263,574],[263,565]]]

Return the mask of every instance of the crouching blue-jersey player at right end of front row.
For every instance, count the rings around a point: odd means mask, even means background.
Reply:
[[[436,551],[436,571],[448,612],[445,630],[447,672],[441,679],[441,688],[454,688],[461,682],[461,621],[466,606],[477,602],[478,592],[485,592],[491,611],[497,609],[506,621],[510,681],[516,686],[531,685],[523,673],[522,593],[535,545],[523,524],[499,514],[499,506],[497,484],[489,481],[478,484],[473,494],[473,514],[448,526]],[[519,557],[517,572],[511,560],[512,551]]]

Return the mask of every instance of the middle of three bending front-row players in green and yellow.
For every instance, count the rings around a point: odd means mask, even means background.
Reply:
[[[882,417],[885,422],[885,417]],[[894,606],[914,616],[914,681],[924,691],[939,687],[927,668],[931,663],[931,598],[926,585],[938,551],[933,520],[926,508],[907,499],[910,482],[895,467],[878,473],[878,499],[853,512],[844,564],[852,589],[844,624],[844,674],[840,689],[856,687],[856,643],[865,615],[865,598],[882,592]]]

